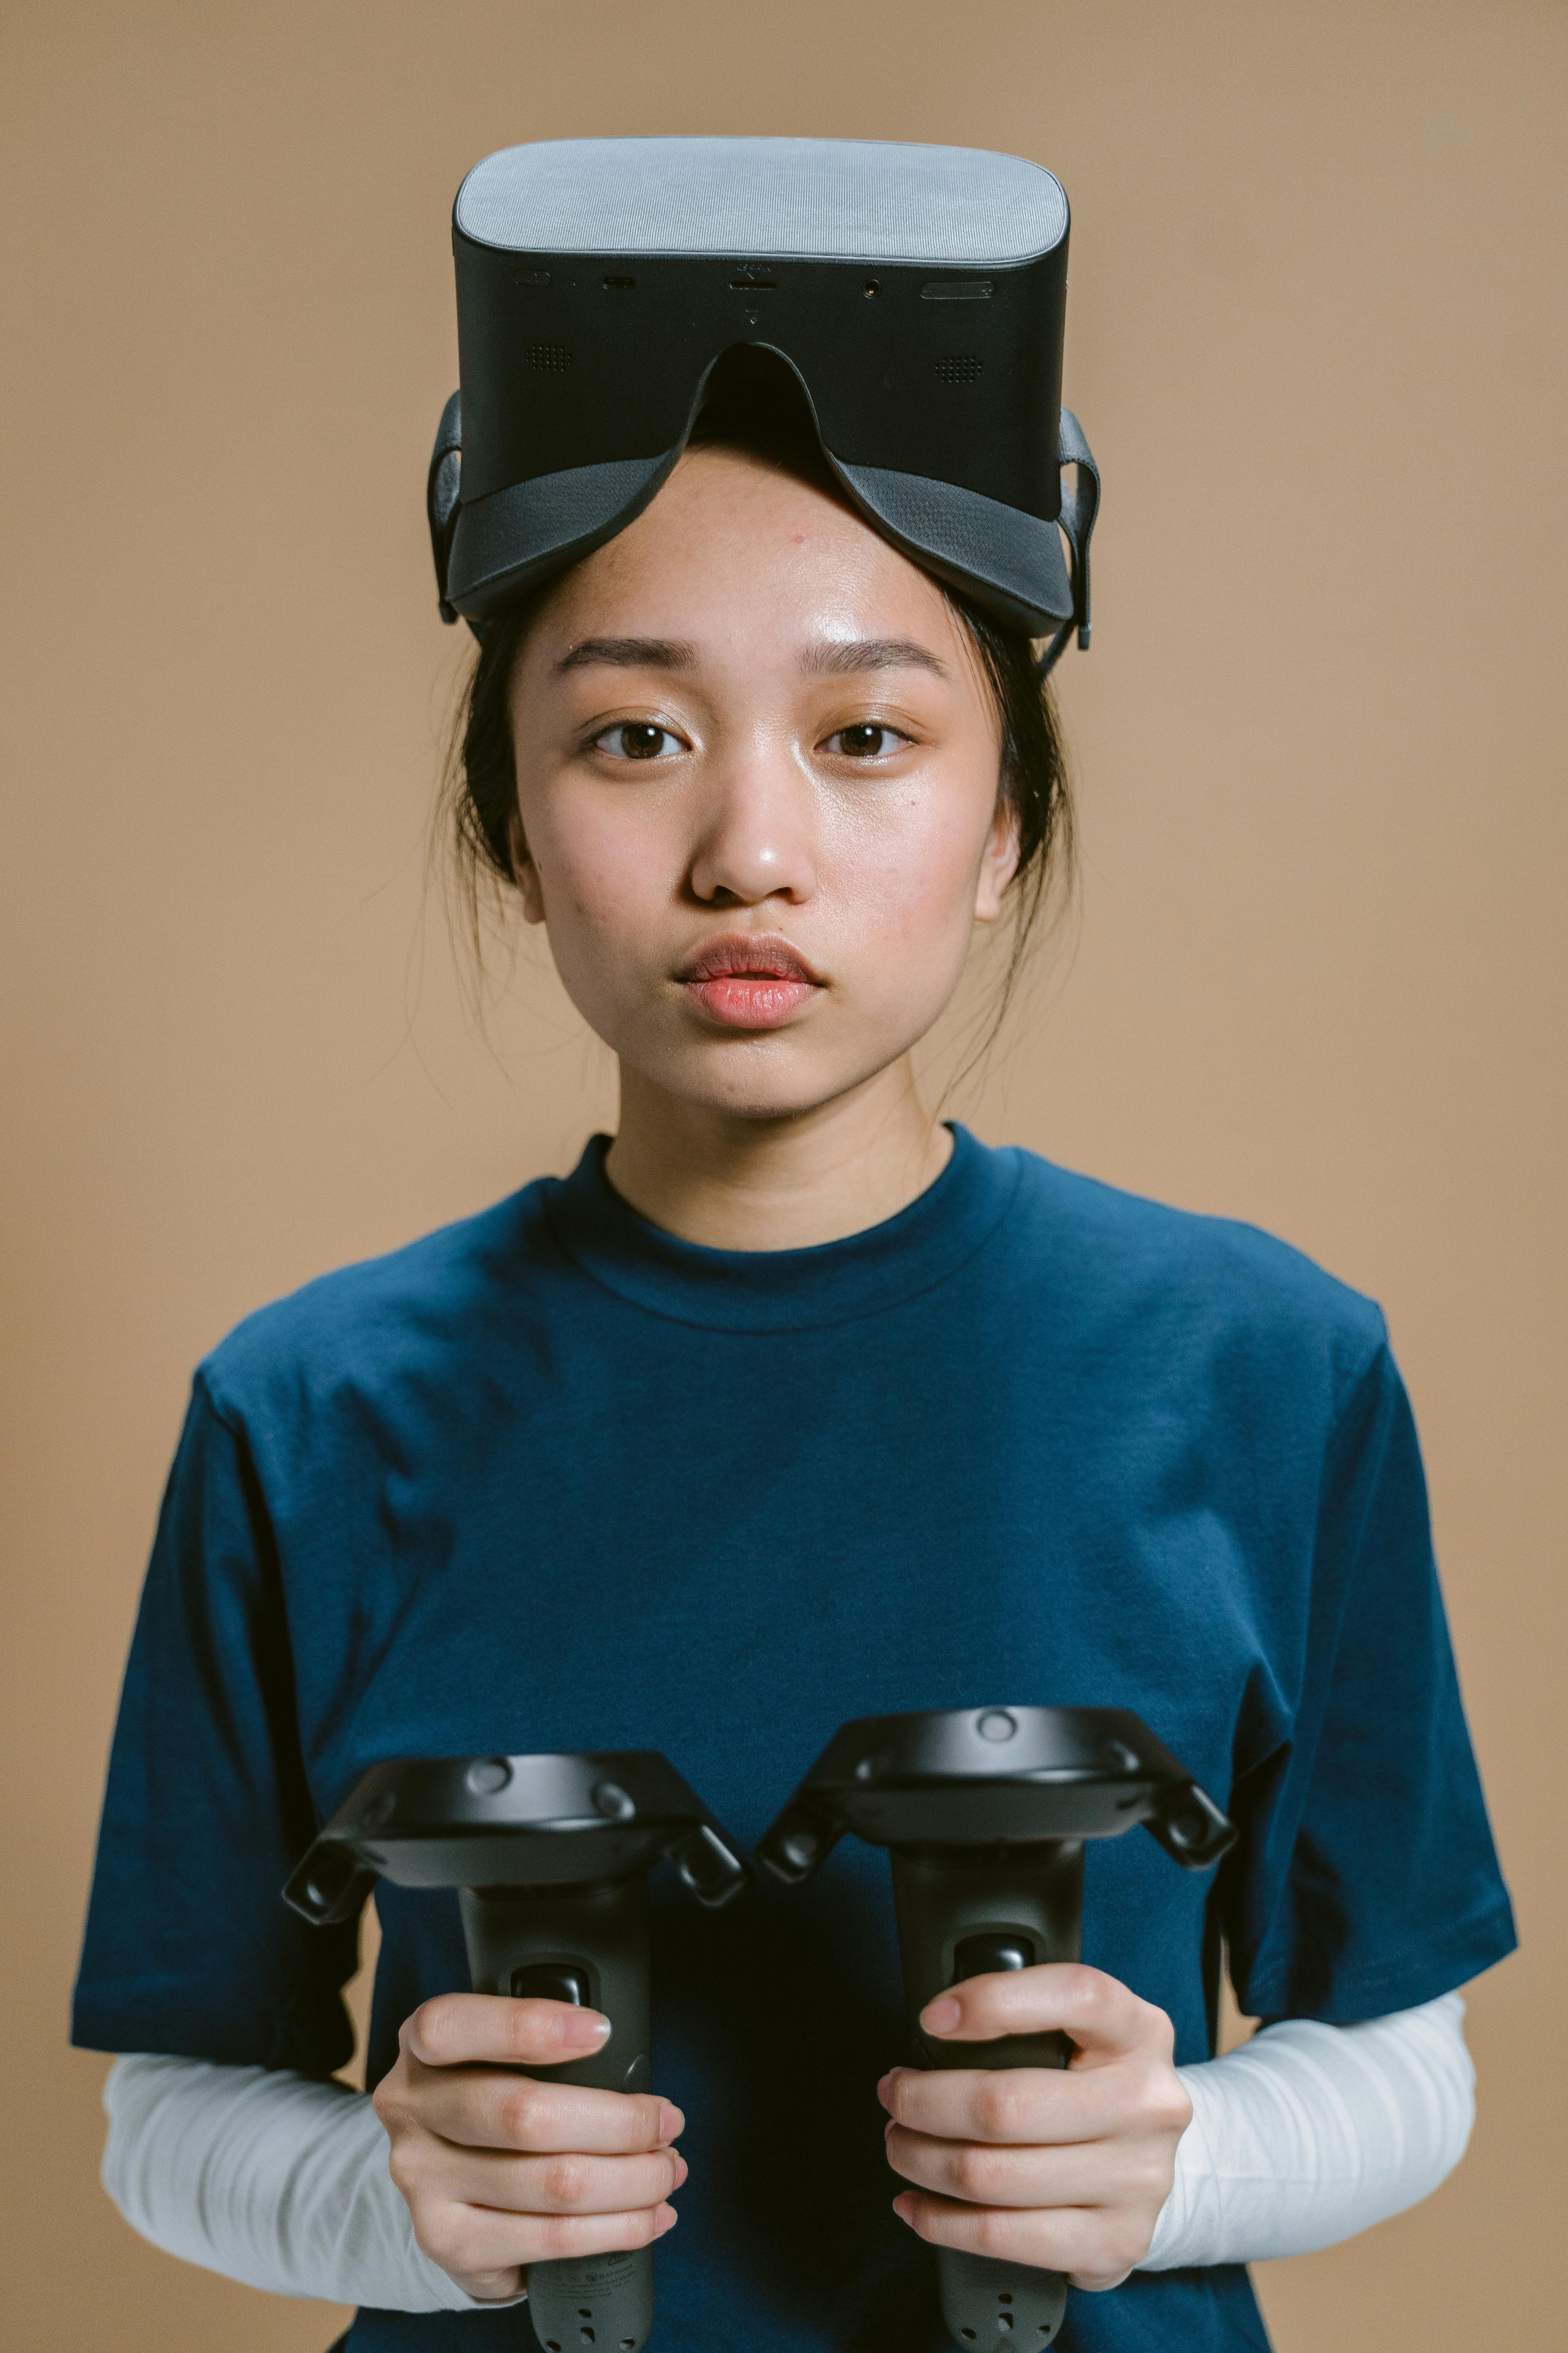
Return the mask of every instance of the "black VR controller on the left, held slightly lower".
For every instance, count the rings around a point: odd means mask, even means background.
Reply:
[[[646,1875],[670,1859],[710,1908],[750,1871],[654,1748],[604,1755],[428,1758],[374,1765],[284,1887],[306,1920],[353,1920],[378,1878],[456,1887],[475,1993],[543,1995],[609,2019],[552,2082],[646,2092]],[[529,2266],[545,2353],[642,2353],[654,2249]]]

